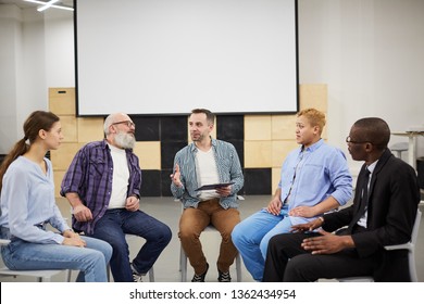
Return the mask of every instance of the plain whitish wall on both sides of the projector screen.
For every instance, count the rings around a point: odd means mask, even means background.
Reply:
[[[329,143],[347,153],[349,128],[364,116],[392,130],[424,124],[423,11],[422,0],[298,0],[299,83],[327,85]],[[4,154],[27,115],[49,107],[48,88],[75,87],[72,13],[0,4],[0,46]],[[424,155],[423,137],[416,152]],[[360,164],[348,159],[356,174]]]

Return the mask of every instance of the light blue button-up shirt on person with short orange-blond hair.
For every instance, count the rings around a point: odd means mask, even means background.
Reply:
[[[288,197],[288,211],[314,206],[329,195],[345,205],[352,197],[352,177],[342,151],[321,139],[304,151],[299,147],[290,152],[283,164],[278,188],[282,202]],[[290,220],[297,225],[311,218],[290,216]]]

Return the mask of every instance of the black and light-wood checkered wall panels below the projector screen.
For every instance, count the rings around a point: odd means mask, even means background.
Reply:
[[[327,112],[325,85],[301,85],[299,97],[301,109]],[[62,147],[51,151],[59,197],[63,175],[78,149],[89,141],[103,139],[103,117],[76,117],[74,88],[50,88],[49,109],[61,117],[65,136]],[[170,175],[174,156],[189,142],[187,116],[132,118],[137,140],[134,152],[142,169],[141,195],[172,197]],[[245,187],[240,195],[275,192],[283,161],[297,147],[295,127],[296,115],[216,115],[212,136],[235,145],[244,168]]]

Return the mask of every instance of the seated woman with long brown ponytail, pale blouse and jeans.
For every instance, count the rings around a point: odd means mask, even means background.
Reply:
[[[54,199],[53,168],[46,157],[63,140],[60,119],[35,111],[24,123],[24,138],[0,166],[1,237],[10,239],[1,254],[13,270],[78,269],[77,281],[108,281],[112,248],[75,233]],[[50,224],[60,233],[47,230]]]

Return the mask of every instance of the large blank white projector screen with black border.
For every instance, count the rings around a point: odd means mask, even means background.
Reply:
[[[78,116],[298,111],[296,0],[75,0]]]

